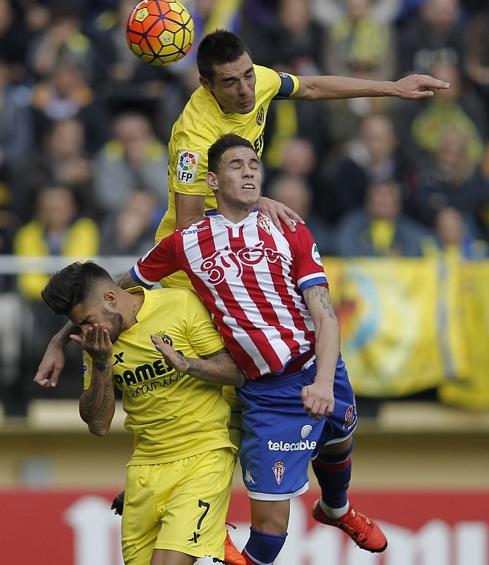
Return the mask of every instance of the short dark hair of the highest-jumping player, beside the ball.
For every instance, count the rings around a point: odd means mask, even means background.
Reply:
[[[214,65],[233,63],[243,55],[251,52],[244,41],[231,31],[217,29],[206,35],[197,50],[197,67],[200,76],[212,82]]]

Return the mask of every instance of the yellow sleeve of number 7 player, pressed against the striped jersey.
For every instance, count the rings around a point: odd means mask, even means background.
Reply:
[[[209,311],[193,292],[188,292],[187,299],[187,337],[199,357],[224,348]]]

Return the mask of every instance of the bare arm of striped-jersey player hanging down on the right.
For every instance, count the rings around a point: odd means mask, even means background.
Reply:
[[[302,401],[312,418],[330,416],[334,411],[334,377],[340,353],[338,321],[325,286],[311,286],[304,291],[316,334],[316,377],[302,389]]]

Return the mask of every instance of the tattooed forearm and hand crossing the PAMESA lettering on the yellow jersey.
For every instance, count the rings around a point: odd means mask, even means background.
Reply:
[[[225,349],[202,359],[185,357],[179,351],[165,343],[160,336],[152,335],[151,341],[163,355],[166,362],[177,371],[187,373],[203,381],[215,384],[243,386],[245,378],[241,369]]]

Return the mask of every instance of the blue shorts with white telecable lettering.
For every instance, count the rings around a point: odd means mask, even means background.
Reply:
[[[315,363],[287,376],[248,381],[238,390],[244,405],[239,453],[250,498],[287,500],[309,487],[309,460],[328,443],[343,441],[355,430],[355,396],[341,356],[336,367],[335,409],[330,417],[310,418],[302,388],[314,382]]]

